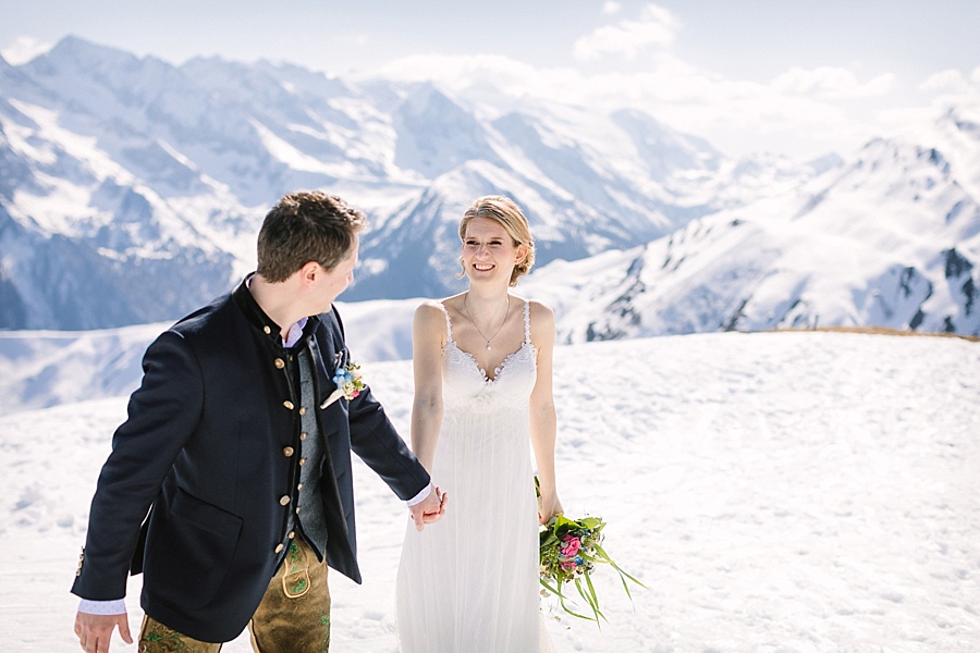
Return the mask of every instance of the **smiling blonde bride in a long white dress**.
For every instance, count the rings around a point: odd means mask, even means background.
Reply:
[[[539,609],[538,525],[562,512],[554,313],[510,293],[535,260],[517,205],[477,199],[460,237],[469,289],[424,303],[413,324],[412,447],[453,505],[439,523],[406,531],[399,641],[403,653],[551,651]]]

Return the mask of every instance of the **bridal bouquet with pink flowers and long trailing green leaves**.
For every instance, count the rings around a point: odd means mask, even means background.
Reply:
[[[596,565],[609,565],[620,575],[626,595],[633,601],[627,580],[641,588],[646,587],[639,580],[626,574],[605,553],[602,547],[604,535],[602,529],[605,522],[600,517],[583,517],[569,519],[564,515],[555,515],[547,526],[541,527],[540,554],[541,554],[541,586],[542,594],[550,592],[559,599],[562,609],[574,617],[588,619],[599,624],[599,618],[605,619],[605,615],[599,609],[599,596],[592,586],[591,574]],[[574,583],[592,612],[592,616],[579,614],[565,604],[565,583]]]

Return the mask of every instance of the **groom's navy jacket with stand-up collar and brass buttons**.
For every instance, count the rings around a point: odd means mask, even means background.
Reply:
[[[360,582],[351,451],[403,500],[429,475],[369,390],[321,408],[335,389],[338,355],[346,354],[336,310],[310,318],[304,337],[316,368],[317,402],[308,407],[291,394],[291,350],[279,326],[244,283],[149,346],[99,476],[75,594],[123,597],[132,563],[144,571],[149,616],[203,641],[234,639],[281,558],[302,408],[316,411],[327,445],[327,560]]]

